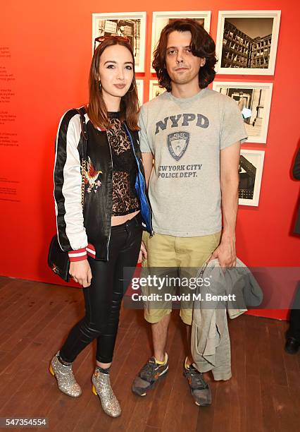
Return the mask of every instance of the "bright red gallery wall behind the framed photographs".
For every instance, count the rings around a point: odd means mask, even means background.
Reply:
[[[281,10],[274,76],[218,75],[216,81],[273,83],[267,143],[243,149],[264,150],[258,207],[240,206],[237,255],[250,266],[300,265],[300,238],[292,234],[299,182],[292,161],[299,145],[300,59],[299,2],[253,0],[251,10]],[[240,10],[240,1],[185,1],[185,10],[211,11],[215,39],[218,11]],[[249,6],[249,4],[247,4]],[[151,7],[151,8],[150,8]],[[163,11],[180,11],[182,2],[166,1]],[[144,101],[149,97],[151,18],[161,1],[115,1],[101,10],[90,0],[31,0],[1,5],[0,26],[0,275],[58,283],[46,266],[56,230],[53,201],[54,138],[65,110],[87,101],[87,75],[92,54],[92,13],[146,11]],[[274,284],[276,281],[274,280]],[[284,289],[281,287],[280,289]],[[287,311],[258,311],[287,317]]]

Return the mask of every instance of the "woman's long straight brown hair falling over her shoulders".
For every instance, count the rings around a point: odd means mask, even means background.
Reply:
[[[127,126],[132,131],[137,131],[139,130],[139,127],[137,126],[139,118],[139,100],[137,97],[137,83],[135,81],[135,58],[129,42],[122,40],[121,37],[108,37],[95,49],[91,68],[89,70],[89,105],[87,107],[87,114],[95,127],[105,129],[110,128],[111,125],[108,119],[104,97],[101,90],[99,90],[99,64],[104,49],[111,47],[112,45],[123,45],[123,47],[129,49],[130,54],[132,55],[133,79],[130,90],[121,98],[120,120],[126,121]]]

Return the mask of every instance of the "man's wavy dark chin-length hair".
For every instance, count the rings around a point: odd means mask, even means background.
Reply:
[[[165,68],[165,55],[167,52],[168,35],[174,31],[192,33],[192,54],[206,59],[204,66],[199,71],[199,87],[206,88],[215,78],[215,63],[217,62],[215,57],[215,42],[202,25],[190,18],[172,21],[161,31],[161,37],[154,51],[154,61],[152,62],[160,87],[165,88],[168,92],[171,91],[171,80]]]

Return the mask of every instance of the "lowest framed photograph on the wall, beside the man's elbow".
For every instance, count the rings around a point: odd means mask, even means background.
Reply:
[[[239,205],[258,206],[263,175],[262,150],[241,150],[239,157]]]

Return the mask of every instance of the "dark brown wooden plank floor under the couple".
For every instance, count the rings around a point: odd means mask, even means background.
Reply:
[[[70,326],[83,314],[80,289],[0,278],[0,417],[47,417],[50,431],[296,431],[300,414],[300,354],[284,352],[287,323],[254,316],[230,321],[232,374],[214,382],[213,404],[196,407],[182,376],[183,328],[173,312],[168,337],[170,370],[155,390],[130,388],[151,355],[142,311],[123,309],[111,372],[123,409],[101,411],[92,394],[94,345],[78,356],[79,399],[63,395],[48,372]],[[20,430],[20,429],[19,429]]]

